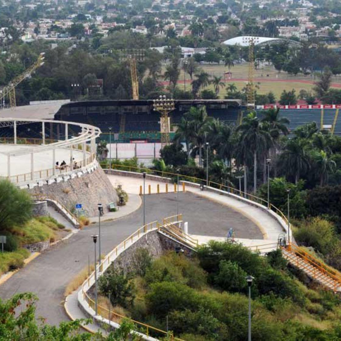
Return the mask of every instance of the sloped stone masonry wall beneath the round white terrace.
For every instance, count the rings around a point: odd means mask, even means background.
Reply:
[[[34,187],[29,192],[55,197],[69,209],[73,208],[76,203],[82,204],[83,208],[88,210],[90,217],[98,214],[98,203],[101,203],[104,211],[107,212],[108,204],[117,202],[116,191],[102,168],[66,182]]]

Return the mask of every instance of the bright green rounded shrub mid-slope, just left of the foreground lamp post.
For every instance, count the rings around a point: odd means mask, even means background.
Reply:
[[[246,276],[247,273],[237,263],[221,261],[219,263],[218,275],[214,278],[214,283],[223,290],[239,292],[243,291],[247,286]]]

